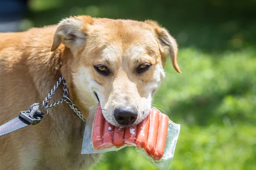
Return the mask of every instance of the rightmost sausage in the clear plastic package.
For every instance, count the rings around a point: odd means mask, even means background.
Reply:
[[[169,117],[162,113],[160,115],[159,127],[158,127],[158,133],[157,133],[157,146],[153,154],[153,157],[155,160],[160,160],[163,157],[166,138],[167,138],[168,124],[169,124]]]

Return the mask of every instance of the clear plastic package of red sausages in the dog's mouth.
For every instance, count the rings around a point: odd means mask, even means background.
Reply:
[[[115,127],[105,120],[98,103],[89,109],[81,154],[118,151],[133,146],[151,164],[160,170],[168,170],[179,133],[180,125],[156,108],[151,108],[148,117],[136,126]]]

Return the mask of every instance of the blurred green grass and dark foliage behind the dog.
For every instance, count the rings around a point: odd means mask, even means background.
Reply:
[[[154,104],[181,124],[171,170],[256,169],[255,0],[30,0],[21,29],[88,14],[157,20],[179,45]],[[93,170],[157,170],[134,147]]]

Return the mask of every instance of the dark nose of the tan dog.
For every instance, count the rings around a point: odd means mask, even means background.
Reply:
[[[114,117],[120,125],[130,125],[137,119],[138,113],[135,108],[125,106],[122,108],[115,108]]]

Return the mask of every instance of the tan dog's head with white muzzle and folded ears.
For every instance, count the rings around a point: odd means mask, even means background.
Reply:
[[[51,51],[61,42],[73,55],[76,96],[87,108],[98,99],[105,119],[114,126],[133,126],[145,119],[165,77],[168,54],[180,72],[176,41],[153,21],[70,17],[59,23]]]

